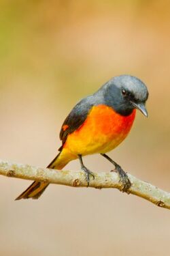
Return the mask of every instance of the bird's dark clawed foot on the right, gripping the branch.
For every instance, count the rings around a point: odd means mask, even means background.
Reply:
[[[122,192],[128,192],[129,188],[131,188],[131,182],[125,171],[123,171],[120,165],[116,165],[116,168],[112,171],[118,173],[120,177],[120,182],[122,183]]]

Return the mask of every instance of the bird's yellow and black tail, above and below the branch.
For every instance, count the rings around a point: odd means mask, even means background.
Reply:
[[[55,158],[50,162],[50,165],[48,165],[47,168],[49,169],[58,169],[61,170],[67,165],[67,163],[76,157],[73,156],[70,152],[68,152],[66,149],[63,149]],[[48,182],[33,182],[29,188],[24,190],[24,192],[19,195],[16,200],[20,199],[38,199],[42,193],[44,193],[44,190],[48,187]]]

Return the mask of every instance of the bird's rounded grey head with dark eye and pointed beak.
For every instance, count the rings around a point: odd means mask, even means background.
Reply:
[[[148,99],[146,85],[137,77],[130,75],[115,76],[102,88],[107,105],[112,106],[121,115],[130,115],[133,109],[139,109],[148,116],[145,104]]]

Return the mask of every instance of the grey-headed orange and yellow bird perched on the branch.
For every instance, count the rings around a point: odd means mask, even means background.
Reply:
[[[111,162],[120,177],[124,190],[131,186],[126,172],[107,152],[114,150],[129,134],[136,109],[148,117],[146,101],[148,88],[136,76],[122,74],[107,81],[94,94],[75,104],[61,127],[61,147],[47,168],[61,170],[71,160],[80,160],[87,186],[95,175],[82,160],[90,154],[101,154]],[[48,182],[33,182],[19,199],[38,199],[49,185]]]

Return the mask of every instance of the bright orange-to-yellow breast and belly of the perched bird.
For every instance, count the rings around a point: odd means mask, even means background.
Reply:
[[[64,147],[72,154],[106,153],[119,145],[131,130],[135,110],[124,117],[105,105],[93,106],[86,121],[69,134]]]

